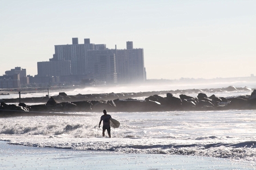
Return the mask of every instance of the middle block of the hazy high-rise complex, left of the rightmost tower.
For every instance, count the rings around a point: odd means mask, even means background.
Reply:
[[[117,83],[114,49],[89,50],[87,55],[89,78],[105,81],[107,84]]]

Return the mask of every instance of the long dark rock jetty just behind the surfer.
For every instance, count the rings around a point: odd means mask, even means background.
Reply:
[[[234,90],[230,86],[228,89]],[[235,88],[237,89],[237,88]],[[165,91],[166,92],[166,91]],[[153,94],[145,97],[145,99],[127,98],[127,96],[139,97],[140,95]],[[1,102],[0,110],[18,110],[18,111],[39,111],[39,112],[102,112],[107,111],[207,111],[207,110],[233,110],[233,109],[256,109],[256,90],[254,89],[251,95],[238,97],[217,97],[214,94],[207,96],[206,93],[199,91],[197,97],[191,97],[187,94],[180,94],[179,97],[174,97],[173,93],[167,92],[165,95],[162,92],[141,92],[141,93],[110,93],[108,95],[98,94],[92,95],[93,100],[75,99],[74,101],[63,101],[65,93],[56,97],[47,97],[47,101],[41,105],[26,105],[19,103],[18,106],[5,102]],[[158,94],[155,94],[158,93]],[[159,94],[160,93],[160,94]],[[126,95],[129,94],[129,95]],[[85,95],[79,94],[78,96]],[[96,98],[97,97],[97,98]],[[71,98],[71,97],[70,97]],[[111,98],[107,100],[106,98]],[[84,98],[83,98],[84,99]],[[23,99],[22,99],[23,100]],[[70,99],[71,100],[71,99]]]

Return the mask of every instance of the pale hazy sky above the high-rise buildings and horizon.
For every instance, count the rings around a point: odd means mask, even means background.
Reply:
[[[2,1],[0,75],[37,74],[54,45],[144,49],[147,78],[256,75],[256,1]]]

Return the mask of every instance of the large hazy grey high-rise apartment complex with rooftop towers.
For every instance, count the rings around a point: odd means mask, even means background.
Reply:
[[[126,48],[108,49],[106,44],[90,43],[90,39],[79,44],[78,38],[73,38],[72,44],[55,45],[50,61],[38,62],[38,76],[66,76],[65,80],[82,76],[106,84],[145,81],[143,49],[133,48],[133,42],[126,42]]]

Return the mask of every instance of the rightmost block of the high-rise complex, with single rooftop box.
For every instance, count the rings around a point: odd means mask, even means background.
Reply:
[[[142,48],[133,48],[133,42],[126,42],[127,49],[117,49],[118,83],[142,82],[146,80],[144,53]]]

